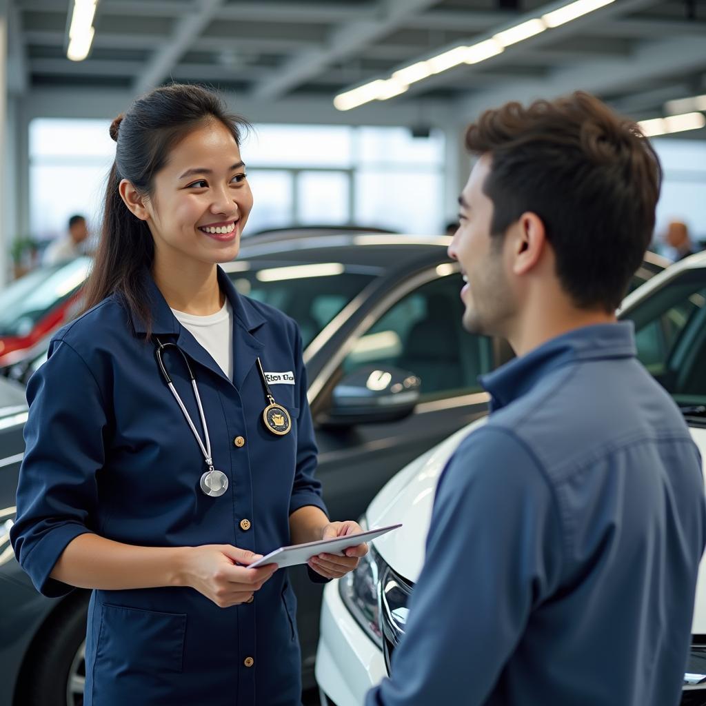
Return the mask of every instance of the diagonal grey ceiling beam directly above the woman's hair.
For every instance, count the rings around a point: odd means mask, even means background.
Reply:
[[[225,0],[198,0],[193,13],[183,16],[174,29],[172,37],[140,71],[133,88],[136,93],[143,93],[162,83],[169,72],[178,63],[181,56],[191,48],[191,44],[210,24]]]

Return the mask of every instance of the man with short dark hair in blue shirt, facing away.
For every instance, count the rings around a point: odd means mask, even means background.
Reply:
[[[659,162],[586,93],[470,126],[449,248],[463,323],[517,358],[438,484],[392,676],[369,706],[669,706],[706,537],[700,458],[615,310]]]

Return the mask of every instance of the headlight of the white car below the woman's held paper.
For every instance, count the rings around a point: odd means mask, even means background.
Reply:
[[[361,517],[358,523],[363,530],[368,529],[365,517]],[[387,565],[371,544],[368,554],[361,557],[358,567],[339,580],[338,592],[355,621],[382,650],[383,638],[378,620],[378,575],[381,563],[386,568]]]

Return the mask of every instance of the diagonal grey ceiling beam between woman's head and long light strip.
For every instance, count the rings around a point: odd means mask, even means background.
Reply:
[[[378,16],[341,23],[328,37],[323,47],[303,52],[286,64],[277,77],[259,83],[253,97],[278,98],[297,85],[309,80],[334,61],[358,52],[372,42],[393,32],[410,16],[436,4],[438,0],[378,0]]]

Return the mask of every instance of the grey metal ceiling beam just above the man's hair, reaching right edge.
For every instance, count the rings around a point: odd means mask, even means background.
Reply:
[[[629,91],[632,86],[657,78],[679,76],[706,64],[706,44],[700,37],[672,37],[644,42],[632,56],[620,61],[597,59],[580,66],[558,69],[542,80],[516,81],[498,90],[481,92],[462,102],[469,119],[482,110],[509,100],[529,102],[538,97],[551,98],[573,90],[604,93]],[[640,116],[636,116],[640,117]]]

